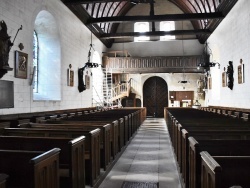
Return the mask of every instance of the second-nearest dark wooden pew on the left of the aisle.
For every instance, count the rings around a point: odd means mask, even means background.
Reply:
[[[59,169],[61,188],[85,187],[84,144],[84,136],[75,139],[0,136],[0,149],[47,151],[51,148],[60,148]]]

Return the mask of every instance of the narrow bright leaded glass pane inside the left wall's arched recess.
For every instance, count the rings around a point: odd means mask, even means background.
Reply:
[[[38,57],[39,57],[39,42],[36,31],[33,32],[33,92],[38,92]]]

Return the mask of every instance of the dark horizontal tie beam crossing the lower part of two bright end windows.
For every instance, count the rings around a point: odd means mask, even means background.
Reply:
[[[101,34],[101,39],[115,39],[115,38],[130,38],[140,36],[165,36],[165,35],[200,35],[211,34],[209,29],[196,30],[173,30],[173,31],[155,31],[155,32],[127,32],[127,33],[105,33]]]

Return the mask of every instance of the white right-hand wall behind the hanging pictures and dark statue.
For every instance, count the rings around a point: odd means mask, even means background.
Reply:
[[[213,53],[213,60],[220,63],[219,74],[211,70],[212,80],[220,82],[218,88],[208,90],[206,98],[207,105],[227,106],[238,108],[249,108],[250,103],[250,1],[241,0],[236,3],[227,17],[208,40],[209,47]],[[238,84],[237,66],[240,59],[245,65],[245,83]],[[234,87],[222,87],[221,74],[228,62],[233,61],[234,66]],[[219,94],[214,94],[218,92]]]

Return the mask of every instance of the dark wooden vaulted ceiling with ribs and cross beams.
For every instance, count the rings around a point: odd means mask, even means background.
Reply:
[[[225,18],[238,0],[166,0],[176,5],[183,14],[155,13],[154,6],[163,0],[62,0],[62,2],[95,34],[106,47],[111,47],[117,38],[133,38],[140,36],[138,32],[117,32],[119,24],[128,22],[149,21],[152,23],[150,32],[144,36],[194,35],[200,43],[207,38]],[[145,15],[127,13],[138,4],[148,4],[150,12]],[[190,21],[192,30],[157,31],[155,22]],[[124,40],[125,41],[125,40]]]

